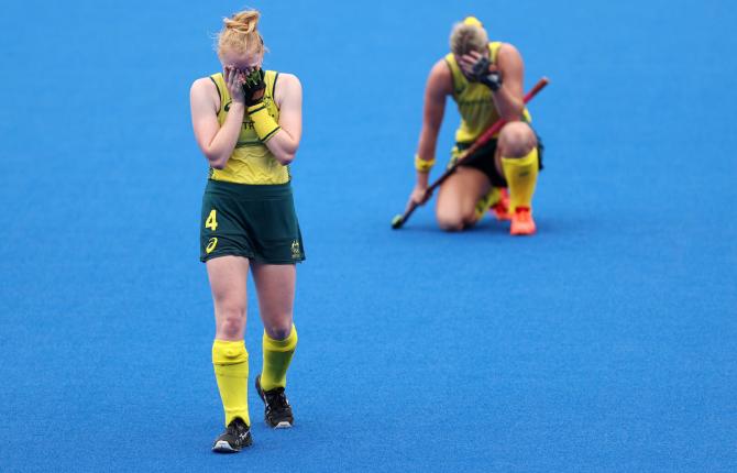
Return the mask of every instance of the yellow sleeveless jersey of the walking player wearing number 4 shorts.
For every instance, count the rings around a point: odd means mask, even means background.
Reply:
[[[274,87],[278,75],[274,70],[266,70],[264,77],[266,82],[264,105],[268,114],[277,123],[279,121],[279,109],[274,101]],[[230,109],[230,94],[222,73],[211,75],[210,79],[215,82],[220,95],[218,122],[222,127]],[[290,175],[289,167],[280,165],[272,152],[268,151],[268,147],[258,140],[258,135],[253,128],[253,121],[245,113],[233,154],[230,155],[224,168],[210,168],[210,179],[238,184],[284,184],[289,182]]]

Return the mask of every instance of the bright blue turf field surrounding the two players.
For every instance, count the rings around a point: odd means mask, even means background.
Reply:
[[[737,470],[737,6],[450,3],[254,4],[305,89],[308,260],[297,425],[231,457],[188,90],[243,4],[2,3],[0,471]],[[389,229],[468,13],[552,81],[535,238]]]

